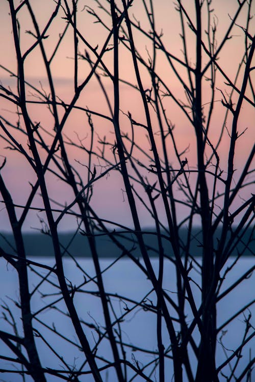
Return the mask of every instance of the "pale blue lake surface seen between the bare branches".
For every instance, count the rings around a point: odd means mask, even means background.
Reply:
[[[54,265],[54,259],[50,257],[36,257],[33,260],[53,266]],[[86,278],[88,280],[88,275],[93,278],[95,276],[93,263],[90,259],[86,258],[79,258],[79,264],[86,272]],[[155,271],[157,272],[158,269],[158,259],[152,259],[152,265],[154,266]],[[198,259],[198,261],[200,261]],[[231,259],[230,261],[233,261]],[[113,264],[114,259],[100,259],[100,265],[101,269],[107,269],[111,264]],[[222,285],[222,291],[224,291],[228,286],[230,286],[233,282],[235,282],[240,275],[243,274],[249,267],[251,267],[254,264],[254,260],[251,257],[243,257],[240,262],[238,263],[238,266],[234,267],[232,271],[230,272],[229,276],[226,280],[224,280]],[[226,266],[230,265],[230,263],[226,264]],[[68,258],[64,259],[64,267],[65,267],[65,275],[69,282],[72,283],[72,285],[78,286],[79,284],[84,282],[84,274],[81,272],[77,265]],[[42,268],[37,268],[40,275],[46,275],[46,270]],[[199,281],[199,275],[196,272],[195,268],[192,270],[192,278],[197,283],[200,283]],[[147,303],[155,303],[156,298],[155,294],[152,292],[151,294],[146,295],[146,293],[151,289],[151,285],[149,281],[146,279],[143,272],[130,260],[130,259],[121,259],[120,261],[114,263],[107,271],[104,272],[104,285],[105,289],[108,293],[118,293],[119,296],[125,296],[130,299],[136,299],[137,301],[142,301],[144,298],[146,299]],[[58,290],[58,281],[56,276],[50,276],[49,278],[50,282],[52,284],[49,284],[48,282],[44,282],[39,290],[42,295],[40,295],[37,292],[34,293],[32,297],[32,310],[33,312],[37,312],[39,309],[45,307],[49,302],[53,302],[58,298],[58,295],[56,293],[59,292]],[[40,277],[36,275],[34,272],[30,272],[30,290],[33,290],[40,281]],[[164,265],[164,281],[163,286],[164,288],[169,291],[171,297],[176,301],[176,283],[175,283],[175,271],[174,267],[169,261],[165,261]],[[218,325],[221,325],[228,317],[232,316],[236,311],[238,311],[242,306],[249,303],[252,299],[254,299],[254,276],[250,276],[248,279],[246,279],[240,286],[238,286],[233,292],[230,293],[225,298],[222,298],[221,301],[218,303],[218,311],[217,311],[217,322]],[[17,329],[20,333],[22,333],[21,330],[21,324],[20,324],[20,314],[19,310],[13,303],[13,301],[18,300],[18,286],[17,286],[17,277],[16,272],[12,268],[10,264],[7,265],[6,261],[0,258],[0,297],[2,299],[2,304],[8,304],[8,306],[11,308],[14,317],[17,321]],[[192,283],[192,288],[194,291],[195,301],[196,304],[199,304],[199,289],[198,287]],[[101,305],[99,298],[96,295],[88,294],[89,291],[96,290],[96,286],[93,283],[93,281],[88,282],[83,288],[83,291],[76,293],[74,296],[74,302],[75,306],[77,307],[79,316],[86,322],[98,325],[100,328],[103,328],[104,318],[101,311]],[[48,295],[46,297],[47,294]],[[11,299],[13,299],[13,301]],[[129,308],[132,307],[131,303],[128,303],[127,301],[124,301],[124,299],[121,299],[119,297],[112,297],[112,304],[114,307],[114,310],[117,314],[121,314],[124,312],[124,308],[128,306]],[[125,305],[127,304],[127,305]],[[70,341],[73,343],[77,343],[77,338],[75,337],[75,333],[72,330],[72,326],[69,322],[68,317],[66,317],[63,313],[60,312],[60,310],[63,310],[63,312],[66,312],[66,308],[63,305],[63,302],[60,301],[59,303],[54,304],[56,309],[54,310],[43,310],[40,314],[38,314],[38,318],[40,321],[46,323],[47,325],[51,326],[53,325],[53,322],[55,322],[56,328],[65,336],[67,336]],[[58,311],[59,309],[59,311]],[[3,311],[3,309],[2,309]],[[251,320],[251,323],[253,324],[253,327],[255,326],[255,309],[254,305],[249,308],[249,311],[245,311],[245,315],[253,314],[253,319]],[[190,309],[187,306],[187,320],[189,321],[192,318]],[[174,315],[174,314],[173,314]],[[222,337],[222,341],[224,343],[224,346],[228,350],[226,353],[228,356],[232,353],[232,350],[238,346],[240,341],[242,340],[242,336],[245,329],[245,323],[244,323],[244,315],[239,315],[234,322],[232,322],[228,326],[227,332]],[[8,330],[11,331],[10,326],[7,324],[6,321],[3,319],[0,321],[1,329],[2,330]],[[53,346],[58,353],[61,356],[64,356],[67,360],[67,363],[69,365],[78,367],[82,365],[84,361],[83,354],[80,352],[80,350],[72,345],[71,343],[65,342],[58,337],[53,332],[48,331],[45,326],[43,326],[39,321],[35,321],[35,328],[38,330],[38,332],[43,336],[46,341],[50,344],[50,346]],[[85,328],[86,335],[88,337],[88,340],[93,346],[94,340],[96,337],[95,332],[86,326]],[[149,312],[144,311],[141,308],[135,309],[132,313],[128,314],[125,317],[125,322],[122,323],[122,336],[123,341],[130,345],[130,347],[126,347],[126,358],[130,362],[134,363],[135,360],[137,360],[142,367],[143,365],[147,364],[148,362],[152,361],[154,359],[154,354],[152,353],[142,353],[140,351],[134,351],[131,344],[134,344],[138,347],[146,347],[149,350],[155,350],[157,351],[157,336],[156,336],[156,315]],[[198,341],[198,333],[194,333],[194,338],[196,341]],[[165,347],[169,346],[169,338],[168,334],[166,332],[166,329],[163,328],[163,342]],[[41,357],[41,361],[43,366],[45,367],[58,367],[58,369],[61,369],[61,362],[60,360],[54,356],[54,354],[49,352],[49,349],[45,345],[44,341],[41,338],[37,338],[37,345],[39,348],[39,353]],[[11,352],[5,351],[3,344],[0,345],[1,347],[1,353],[5,354],[7,356],[13,356]],[[242,353],[243,357],[240,360],[240,365],[238,366],[239,371],[241,371],[244,367],[244,365],[249,360],[250,354],[249,354],[249,348],[251,349],[251,357],[254,357],[254,348],[255,348],[255,341],[252,340],[250,344],[248,345],[247,349]],[[100,345],[98,346],[97,354],[101,357],[105,357],[106,355],[109,356],[109,347],[108,343],[106,341],[101,341]],[[221,345],[218,344],[217,347],[217,354],[216,354],[216,360],[217,365],[220,365],[225,360],[225,354],[224,354],[223,348]],[[111,358],[111,356],[109,356]],[[105,363],[98,362],[99,365],[103,366]],[[0,360],[0,368],[6,368],[7,364],[6,361]],[[193,369],[195,368],[195,360],[193,363]],[[170,364],[168,365],[166,362],[166,375],[168,380],[171,380],[172,378],[172,369],[170,367]],[[226,374],[230,374],[230,369],[224,369],[224,372]],[[238,374],[238,373],[237,373]],[[253,375],[254,376],[254,375]],[[102,377],[104,382],[115,382],[116,377],[115,374],[111,371],[105,371],[102,372]],[[1,379],[2,378],[2,379]],[[18,375],[14,375],[11,373],[8,374],[2,374],[0,376],[1,380],[5,380],[8,382],[21,382],[22,379]],[[151,376],[152,380],[156,380],[154,375]],[[26,378],[26,381],[30,381],[31,378]],[[47,380],[49,382],[56,381],[56,378],[53,376],[48,376]],[[91,376],[86,375],[80,377],[81,381],[84,382],[91,382],[93,378]],[[224,380],[224,378],[222,379]],[[141,378],[137,377],[135,381],[141,381]]]

